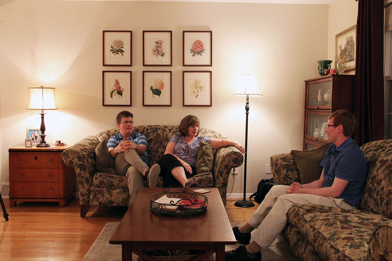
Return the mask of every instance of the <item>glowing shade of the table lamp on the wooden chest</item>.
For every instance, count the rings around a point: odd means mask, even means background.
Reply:
[[[26,110],[57,110],[56,88],[29,88],[29,103]]]

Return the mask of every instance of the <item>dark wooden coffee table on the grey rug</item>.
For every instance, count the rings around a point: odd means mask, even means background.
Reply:
[[[197,188],[189,188],[187,192]],[[148,261],[154,261],[140,250],[206,250],[193,260],[202,260],[215,253],[217,261],[225,260],[225,245],[236,244],[218,188],[204,196],[208,198],[207,211],[186,216],[156,214],[150,210],[150,199],[163,193],[162,188],[142,188],[125,213],[110,244],[122,245],[122,260],[132,260],[132,252]],[[170,191],[179,188],[171,188]]]

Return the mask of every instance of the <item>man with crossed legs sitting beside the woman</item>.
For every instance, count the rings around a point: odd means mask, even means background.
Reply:
[[[155,187],[161,168],[158,164],[147,166],[147,140],[143,134],[133,131],[133,114],[122,111],[117,114],[117,127],[120,132],[107,142],[109,154],[115,159],[114,170],[120,176],[126,176],[129,188],[129,205],[143,187],[143,179],[149,187]]]

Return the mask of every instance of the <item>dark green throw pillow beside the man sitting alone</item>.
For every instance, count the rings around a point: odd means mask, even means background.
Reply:
[[[290,152],[297,164],[301,184],[307,184],[320,178],[321,171],[323,170],[320,163],[324,159],[324,155],[330,145],[328,143],[310,150],[292,150]]]

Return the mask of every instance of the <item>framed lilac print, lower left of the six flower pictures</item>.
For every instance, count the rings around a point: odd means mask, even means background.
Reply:
[[[132,71],[102,71],[102,106],[132,106]]]

